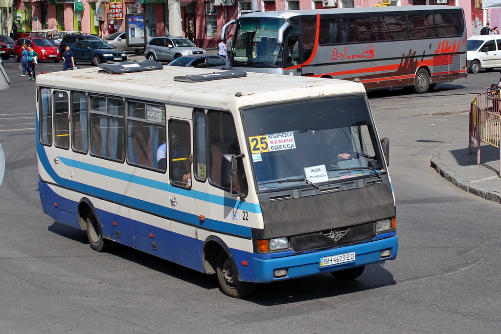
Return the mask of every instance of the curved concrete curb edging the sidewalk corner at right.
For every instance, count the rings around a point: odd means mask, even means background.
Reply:
[[[462,141],[462,140],[457,140],[457,141]],[[445,165],[445,163],[441,159],[442,150],[447,146],[449,146],[450,144],[457,141],[449,142],[445,145],[438,147],[431,156],[430,160],[431,167],[435,169],[443,178],[445,178],[447,181],[451,182],[455,186],[459,187],[460,189],[463,189],[464,191],[470,192],[474,195],[501,204],[501,195],[498,192],[494,192],[492,190],[481,187],[477,184],[470,183],[467,179],[463,178],[457,172],[449,169]]]

